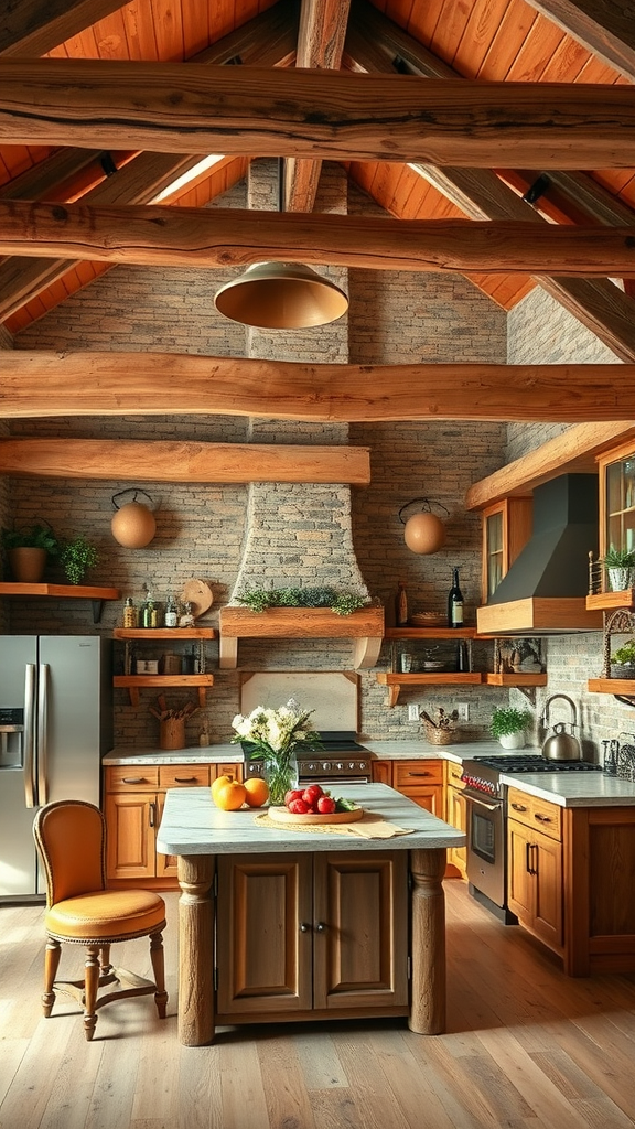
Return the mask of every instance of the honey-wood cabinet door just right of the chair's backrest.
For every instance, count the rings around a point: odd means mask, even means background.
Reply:
[[[106,796],[108,878],[154,878],[156,795]]]

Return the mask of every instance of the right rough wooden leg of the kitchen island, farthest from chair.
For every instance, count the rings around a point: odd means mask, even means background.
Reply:
[[[412,1001],[408,1026],[419,1035],[445,1031],[445,848],[410,852],[412,875]]]

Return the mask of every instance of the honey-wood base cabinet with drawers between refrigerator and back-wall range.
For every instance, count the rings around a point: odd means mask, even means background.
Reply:
[[[176,890],[176,859],[156,851],[165,793],[168,788],[207,787],[224,773],[237,777],[240,765],[107,765],[104,770],[104,814],[108,886],[141,884]]]

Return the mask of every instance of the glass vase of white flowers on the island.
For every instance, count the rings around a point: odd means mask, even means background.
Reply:
[[[232,721],[233,742],[244,742],[252,760],[262,760],[262,772],[275,806],[297,785],[297,749],[320,749],[320,734],[308,724],[314,710],[303,710],[292,698],[286,706],[269,709],[256,706],[246,717],[237,714]]]

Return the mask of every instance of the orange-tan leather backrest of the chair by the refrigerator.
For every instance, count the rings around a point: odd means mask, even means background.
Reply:
[[[46,869],[47,903],[105,889],[106,824],[94,804],[63,799],[41,807],[33,824]]]

